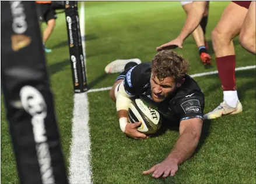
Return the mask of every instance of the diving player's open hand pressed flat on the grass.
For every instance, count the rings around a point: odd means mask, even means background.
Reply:
[[[174,176],[178,171],[178,164],[175,160],[164,160],[162,163],[154,165],[148,171],[143,171],[142,174],[152,174],[153,178],[159,178],[162,176],[166,178],[171,175]]]

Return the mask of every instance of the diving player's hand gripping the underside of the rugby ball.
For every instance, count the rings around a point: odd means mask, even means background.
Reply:
[[[125,134],[134,139],[146,139],[148,136],[138,131],[138,127],[141,126],[141,122],[128,123],[125,127]]]

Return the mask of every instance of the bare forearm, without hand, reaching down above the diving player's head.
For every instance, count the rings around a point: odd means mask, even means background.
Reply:
[[[194,30],[198,27],[202,16],[204,15],[204,4],[197,4],[197,2],[193,2],[193,7],[188,12],[187,19],[185,20],[183,29],[181,30],[178,38],[184,40],[187,38]]]

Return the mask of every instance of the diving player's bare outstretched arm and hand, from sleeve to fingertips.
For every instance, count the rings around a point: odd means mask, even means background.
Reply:
[[[180,122],[180,137],[169,156],[162,163],[154,165],[143,174],[152,174],[153,178],[174,176],[178,171],[178,165],[186,161],[194,153],[201,135],[203,120],[192,118]]]

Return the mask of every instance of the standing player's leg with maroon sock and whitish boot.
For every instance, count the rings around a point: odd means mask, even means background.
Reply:
[[[212,31],[213,49],[216,54],[216,64],[222,84],[224,102],[215,110],[205,114],[206,119],[218,118],[222,114],[237,114],[243,111],[236,91],[233,38],[239,34],[247,9],[230,2],[224,10],[219,23]]]

